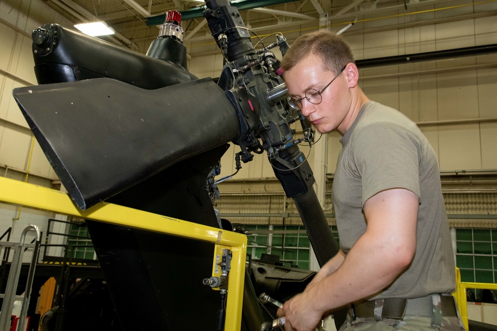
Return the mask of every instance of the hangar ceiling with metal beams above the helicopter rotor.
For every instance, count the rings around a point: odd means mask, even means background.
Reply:
[[[46,3],[74,22],[105,21],[116,31],[110,41],[141,52],[157,38],[167,10],[182,13],[185,42],[212,40],[201,16],[202,0],[47,0]],[[340,30],[351,22],[362,24],[354,24],[345,35],[394,30],[494,16],[496,4],[496,0],[232,1],[232,5],[239,7],[245,24],[259,35],[275,32],[276,27],[298,31],[331,26],[332,30]]]

